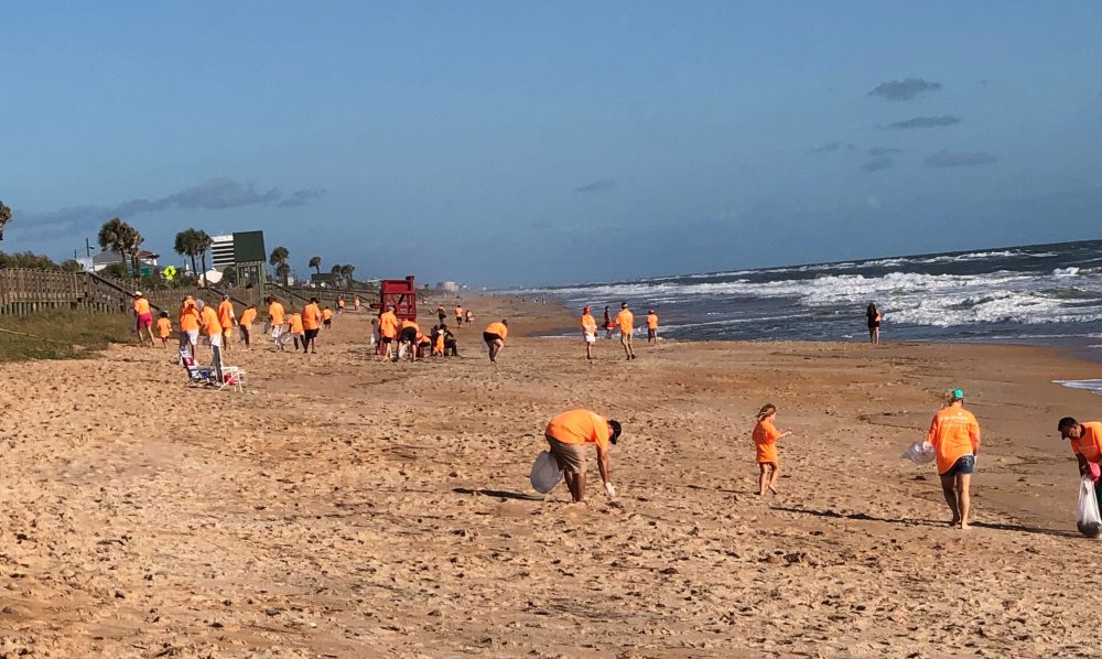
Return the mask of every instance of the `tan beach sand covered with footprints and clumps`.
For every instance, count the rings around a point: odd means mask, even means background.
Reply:
[[[627,363],[615,341],[588,364],[523,337],[572,326],[562,310],[464,304],[462,358],[375,361],[346,314],[315,356],[230,352],[244,396],[185,387],[171,350],[0,366],[0,657],[1099,651],[1102,544],[1074,530],[1055,425],[1102,399],[1050,383],[1099,365],[676,342]],[[495,367],[478,339],[500,316],[518,336]],[[951,386],[985,439],[964,532],[933,467],[899,460]],[[765,402],[796,434],[759,498]],[[529,486],[575,406],[624,423],[616,499],[595,476],[582,506]]]

